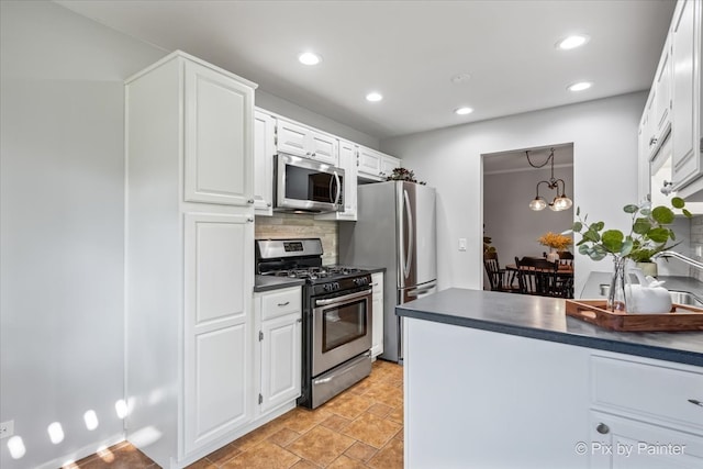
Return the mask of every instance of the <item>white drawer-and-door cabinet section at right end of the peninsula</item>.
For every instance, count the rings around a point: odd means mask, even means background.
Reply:
[[[638,357],[593,354],[591,468],[703,467],[703,373]]]

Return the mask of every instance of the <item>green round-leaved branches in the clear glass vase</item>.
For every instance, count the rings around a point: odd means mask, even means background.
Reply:
[[[685,202],[679,197],[671,199],[671,208],[658,205],[650,209],[649,203],[625,205],[623,211],[632,215],[632,227],[627,234],[620,230],[605,230],[603,222],[588,223],[588,215],[581,219],[581,210],[578,208],[578,221],[573,223],[572,230],[581,235],[581,241],[577,244],[579,253],[593,260],[613,255],[636,263],[650,261],[655,254],[671,249],[678,244],[668,244],[676,242],[676,235],[669,225],[676,217],[672,209],[681,210],[681,213],[691,217],[684,205]]]

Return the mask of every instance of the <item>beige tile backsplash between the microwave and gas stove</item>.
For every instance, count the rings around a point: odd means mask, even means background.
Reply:
[[[254,227],[257,239],[319,237],[322,239],[322,264],[337,264],[339,231],[337,222],[315,220],[314,215],[300,213],[274,213],[257,216]]]

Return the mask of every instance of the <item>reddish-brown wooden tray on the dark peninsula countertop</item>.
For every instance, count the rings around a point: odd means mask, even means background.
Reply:
[[[566,300],[567,315],[621,332],[703,331],[703,309],[677,304],[665,314],[607,311],[605,300]]]

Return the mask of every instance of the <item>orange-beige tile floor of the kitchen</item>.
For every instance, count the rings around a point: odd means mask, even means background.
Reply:
[[[190,469],[308,469],[403,467],[403,368],[377,360],[371,376],[324,405],[281,415]],[[115,445],[70,469],[158,466],[129,443]]]

